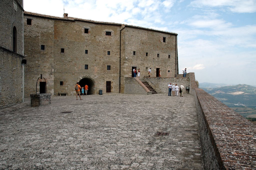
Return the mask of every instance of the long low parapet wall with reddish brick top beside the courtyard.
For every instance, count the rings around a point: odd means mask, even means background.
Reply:
[[[204,90],[192,91],[205,169],[255,169],[256,126]]]

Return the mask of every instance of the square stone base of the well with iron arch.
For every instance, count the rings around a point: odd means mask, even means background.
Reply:
[[[51,104],[50,93],[30,94],[31,107]]]

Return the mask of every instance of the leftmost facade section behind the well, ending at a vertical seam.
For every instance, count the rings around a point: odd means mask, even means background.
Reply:
[[[27,25],[31,19],[31,25]],[[25,67],[25,97],[36,93],[36,83],[40,74],[46,79],[47,93],[54,94],[54,21],[47,18],[36,18],[24,15],[24,54]],[[41,45],[45,46],[41,50]],[[39,82],[37,83],[39,91]],[[39,93],[39,92],[38,92]]]

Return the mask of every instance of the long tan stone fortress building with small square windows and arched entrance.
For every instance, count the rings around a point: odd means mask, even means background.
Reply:
[[[52,95],[74,95],[74,86],[88,94],[124,93],[133,68],[141,76],[178,74],[177,34],[108,22],[24,12],[25,96],[35,93],[40,74]],[[39,89],[38,85],[38,89]]]

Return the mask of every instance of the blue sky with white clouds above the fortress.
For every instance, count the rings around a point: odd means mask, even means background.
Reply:
[[[40,4],[40,5],[38,5]],[[24,0],[24,10],[178,34],[179,73],[256,85],[256,0]]]

